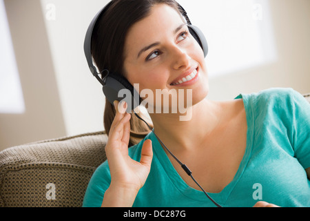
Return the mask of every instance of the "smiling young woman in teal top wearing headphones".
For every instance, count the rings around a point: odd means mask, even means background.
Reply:
[[[158,89],[191,90],[191,119],[154,111],[149,131],[125,112],[126,103],[106,102],[107,162],[92,176],[83,206],[214,206],[196,182],[221,206],[310,206],[309,104],[280,88],[206,99],[203,49],[182,15],[174,0],[118,0],[97,21],[99,70],[123,75],[154,100]]]

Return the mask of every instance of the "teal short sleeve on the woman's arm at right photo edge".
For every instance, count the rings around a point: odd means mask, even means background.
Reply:
[[[296,91],[291,93],[293,149],[295,157],[307,169],[310,167],[310,104]]]

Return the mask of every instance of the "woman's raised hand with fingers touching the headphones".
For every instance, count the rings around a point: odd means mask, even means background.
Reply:
[[[110,167],[111,184],[105,193],[103,206],[132,206],[136,194],[145,184],[151,168],[152,141],[145,140],[141,160],[136,162],[128,155],[130,140],[130,117],[126,113],[127,104],[114,102],[116,115],[111,125],[109,140],[105,146],[107,162]],[[114,198],[110,198],[110,196]],[[110,199],[110,200],[109,200]],[[112,201],[113,202],[112,202]],[[118,202],[114,202],[118,200]]]

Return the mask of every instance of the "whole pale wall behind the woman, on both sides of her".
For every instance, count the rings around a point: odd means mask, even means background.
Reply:
[[[269,0],[271,16],[263,14],[262,22],[272,28],[275,45],[267,48],[274,48],[271,52],[276,56],[271,57],[275,59],[246,68],[239,66],[220,75],[214,74],[216,68],[212,69],[211,64],[216,61],[228,66],[231,62],[229,57],[218,55],[218,33],[227,28],[227,23],[216,26],[218,31],[211,28],[218,23],[216,19],[224,19],[231,11],[225,11],[229,8],[225,5],[216,10],[206,8],[212,1],[180,0],[192,22],[205,29],[208,39],[209,99],[233,99],[239,93],[278,86],[310,92],[309,0]],[[230,1],[242,3],[242,0]],[[253,2],[264,6],[265,0]],[[0,114],[0,149],[60,135],[103,130],[105,100],[99,82],[87,68],[83,40],[92,17],[107,0],[5,0],[5,3],[28,115]],[[216,11],[216,19],[208,17],[208,10]],[[229,46],[230,38],[229,35],[220,38],[222,49]],[[270,41],[269,37],[261,39],[264,44]]]

